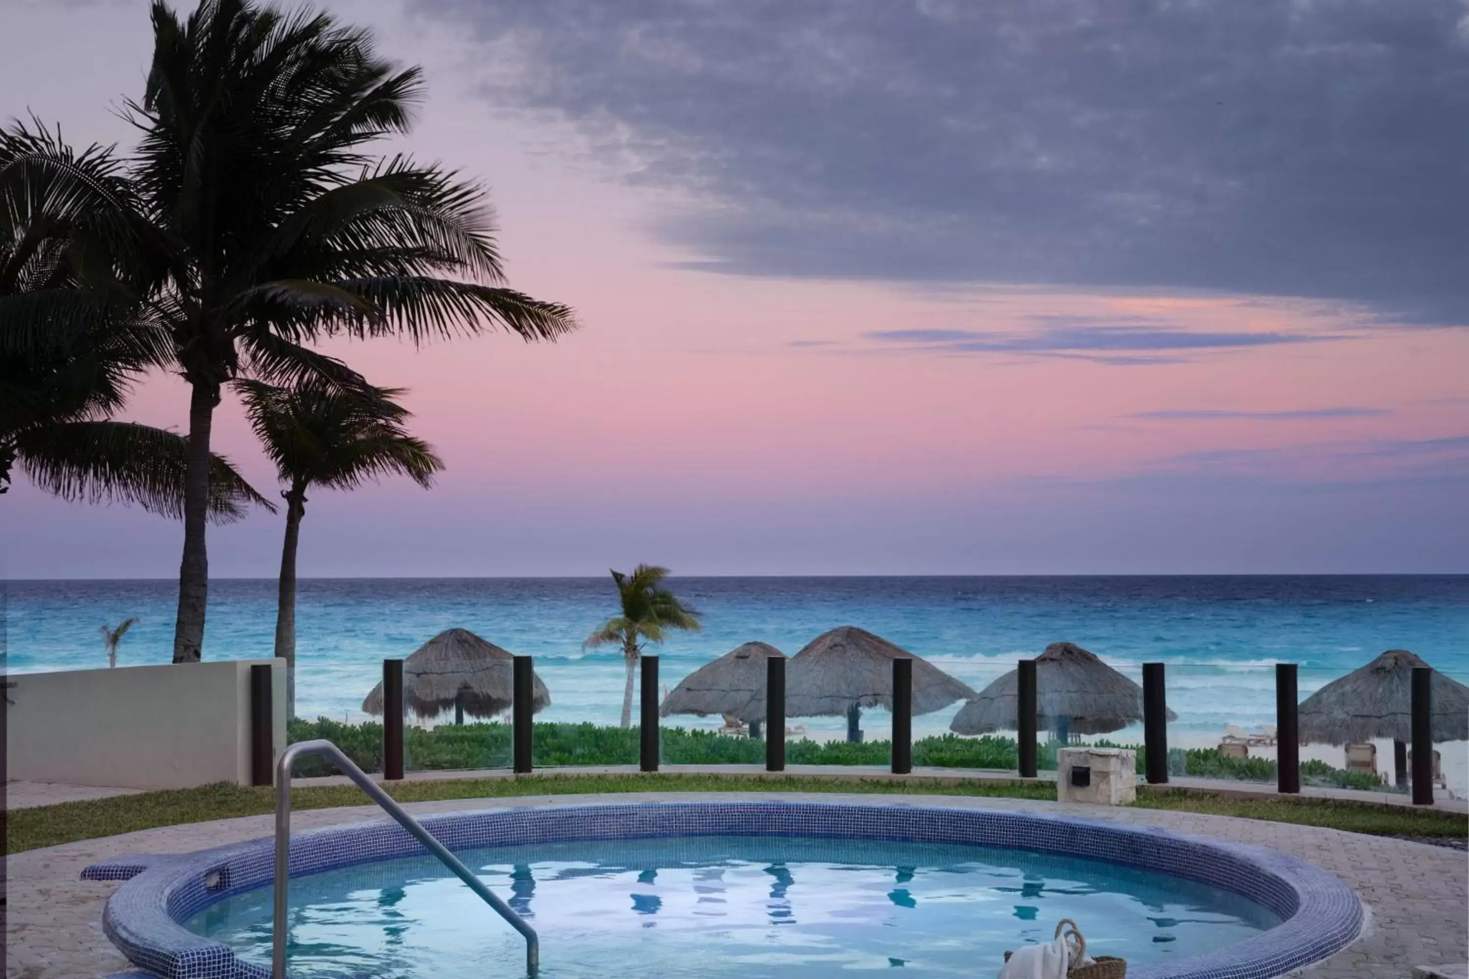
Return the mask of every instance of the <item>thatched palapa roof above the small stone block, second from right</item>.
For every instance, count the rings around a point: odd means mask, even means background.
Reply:
[[[1014,731],[1019,671],[1012,669],[959,707],[956,734]],[[1178,715],[1168,712],[1172,721]],[[1143,688],[1075,643],[1052,643],[1036,658],[1036,727],[1065,718],[1077,734],[1108,734],[1143,719]]]

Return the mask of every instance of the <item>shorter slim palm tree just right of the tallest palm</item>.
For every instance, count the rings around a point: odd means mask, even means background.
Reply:
[[[357,489],[367,480],[401,474],[427,487],[444,462],[433,449],[410,436],[407,408],[394,402],[403,392],[366,387],[344,392],[308,379],[295,387],[256,380],[235,382],[250,424],[288,489],[285,545],[281,549],[281,589],[275,655],[285,659],[286,716],[295,716],[295,552],[306,515],[306,492],[313,486]]]

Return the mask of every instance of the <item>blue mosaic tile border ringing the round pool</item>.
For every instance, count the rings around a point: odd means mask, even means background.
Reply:
[[[1159,828],[1050,813],[909,804],[795,801],[608,803],[427,816],[450,850],[552,841],[746,835],[900,840],[1009,847],[1156,870],[1247,897],[1282,923],[1219,951],[1128,970],[1131,979],[1271,979],[1327,958],[1362,931],[1357,895],[1335,876],[1272,850]],[[291,841],[291,876],[426,856],[391,820],[329,826]],[[135,966],[166,979],[269,979],[220,942],[179,922],[232,894],[270,884],[270,838],[181,856],[120,857],[84,879],[126,881],[103,913],[107,936]],[[554,945],[544,957],[555,954]]]

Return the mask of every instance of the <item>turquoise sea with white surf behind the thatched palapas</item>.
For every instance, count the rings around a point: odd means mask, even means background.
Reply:
[[[103,666],[98,627],[134,615],[141,621],[123,640],[120,663],[169,662],[173,581],[3,584],[10,671]],[[682,578],[673,587],[704,612],[705,628],[657,650],[668,687],[739,643],[764,640],[795,653],[843,624],[883,634],[974,688],[1059,640],[1134,678],[1141,662],[1163,660],[1181,734],[1272,721],[1277,660],[1302,665],[1303,694],[1391,647],[1469,681],[1469,575]],[[275,590],[269,580],[210,583],[206,656],[269,656]],[[614,602],[607,578],[304,580],[298,713],[361,719],[382,658],[407,656],[460,625],[536,656],[552,696],[542,718],[614,724],[621,658],[580,649]],[[915,732],[945,729],[956,709],[917,718]],[[842,727],[804,724],[812,732]],[[881,735],[886,718],[870,712],[864,727]]]

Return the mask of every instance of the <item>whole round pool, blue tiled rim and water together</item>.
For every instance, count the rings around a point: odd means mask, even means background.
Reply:
[[[1272,851],[1036,813],[710,801],[423,822],[539,932],[545,979],[986,976],[1062,917],[1133,978],[1271,976],[1362,916]],[[88,870],[134,873],[104,919],[132,961],[269,975],[269,840]],[[291,979],[523,973],[520,936],[395,823],[300,834],[291,875]]]

